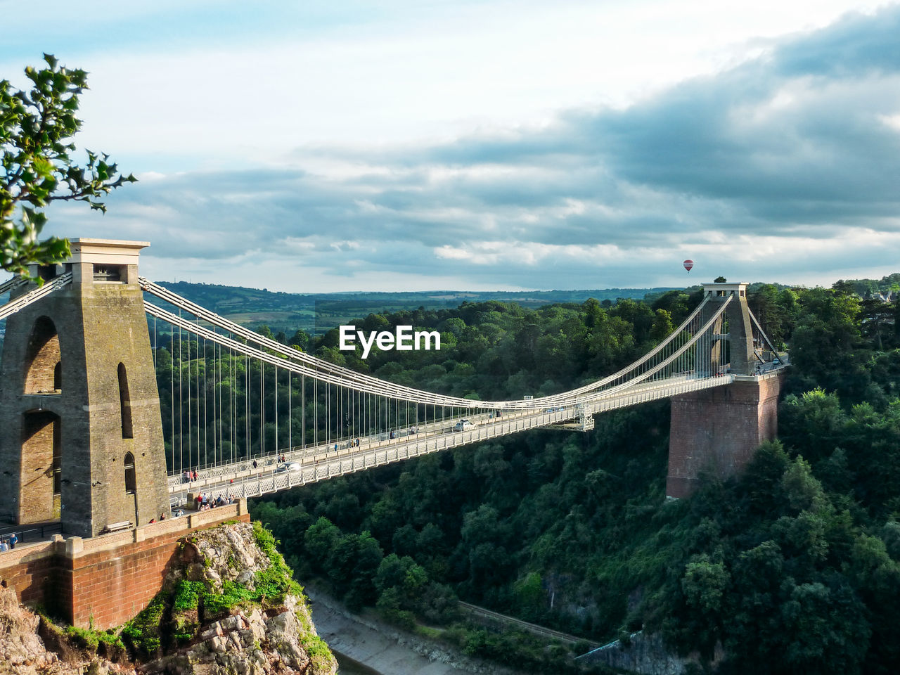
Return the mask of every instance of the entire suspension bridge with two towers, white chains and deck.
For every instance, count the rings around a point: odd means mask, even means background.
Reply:
[[[599,413],[664,398],[667,493],[683,497],[703,470],[739,471],[775,432],[786,357],[752,316],[747,284],[703,284],[669,337],[596,382],[473,401],[226,320],[139,276],[146,246],[74,239],[64,265],[32,270],[43,286],[0,286],[11,293],[0,307],[0,517],[97,536],[200,494],[242,499],[529,429],[587,431]]]

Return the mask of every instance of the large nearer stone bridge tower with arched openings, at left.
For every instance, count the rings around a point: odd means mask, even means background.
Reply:
[[[166,458],[138,256],[147,242],[72,239],[72,283],[6,320],[0,518],[95,536],[168,514]],[[28,284],[14,296],[33,288]]]

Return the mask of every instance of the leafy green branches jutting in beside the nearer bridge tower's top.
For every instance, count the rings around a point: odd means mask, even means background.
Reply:
[[[30,264],[57,263],[69,254],[67,239],[40,239],[49,202],[86,202],[105,212],[103,195],[137,180],[121,175],[104,153],[88,150],[84,166],[74,161],[87,73],[60,66],[50,54],[44,61],[47,67],[25,68],[29,91],[0,80],[0,267],[21,275]]]

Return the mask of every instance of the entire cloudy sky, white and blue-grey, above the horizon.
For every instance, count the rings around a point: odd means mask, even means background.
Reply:
[[[377,5],[377,6],[376,6]],[[563,289],[900,271],[900,4],[0,0],[140,179],[68,237],[157,280]],[[696,262],[688,275],[684,258]]]

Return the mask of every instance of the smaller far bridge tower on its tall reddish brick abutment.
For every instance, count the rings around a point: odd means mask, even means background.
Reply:
[[[778,431],[784,371],[758,368],[761,346],[753,343],[747,284],[703,284],[703,292],[709,299],[703,323],[732,298],[714,327],[713,344],[727,342],[727,370],[734,382],[672,397],[666,495],[675,498],[696,490],[703,472],[720,478],[740,473],[753,451]]]

